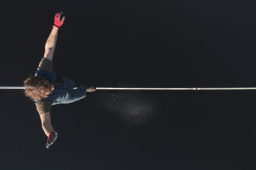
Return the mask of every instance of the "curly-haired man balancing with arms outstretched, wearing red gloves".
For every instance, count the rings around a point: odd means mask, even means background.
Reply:
[[[24,94],[35,101],[36,110],[40,115],[42,129],[47,135],[46,147],[49,148],[58,133],[51,125],[51,106],[56,104],[67,104],[86,97],[86,92],[94,92],[94,87],[87,88],[84,85],[77,85],[74,81],[55,73],[52,67],[52,57],[58,38],[58,31],[63,24],[65,17],[63,12],[56,13],[52,31],[45,43],[44,57],[36,70],[35,76],[30,76],[24,81]]]

